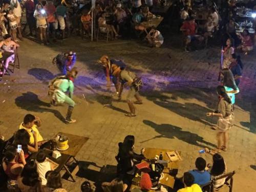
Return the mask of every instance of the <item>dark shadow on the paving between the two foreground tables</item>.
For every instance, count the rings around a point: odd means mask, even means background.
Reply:
[[[116,169],[114,165],[98,166],[94,162],[79,161],[79,171],[76,176],[86,178],[95,182],[95,191],[102,191],[102,182],[111,182],[116,178]]]

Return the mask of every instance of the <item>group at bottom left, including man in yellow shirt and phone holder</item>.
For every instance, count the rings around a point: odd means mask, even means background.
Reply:
[[[50,162],[46,161],[42,149],[49,147],[50,143],[39,133],[37,127],[40,125],[39,117],[27,114],[10,139],[0,139],[1,187],[6,186],[8,191],[67,191],[62,188],[60,174],[54,172]],[[17,145],[22,145],[20,152]]]

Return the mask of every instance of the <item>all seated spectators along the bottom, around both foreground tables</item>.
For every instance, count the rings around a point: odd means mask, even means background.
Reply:
[[[13,137],[4,141],[0,138],[1,148],[1,186],[6,185],[10,191],[66,191],[62,188],[60,174],[53,170],[53,166],[46,160],[47,155],[44,148],[50,148],[50,140],[44,140],[38,131],[41,120],[31,114],[24,117],[19,129]],[[18,152],[17,145],[22,145]],[[142,148],[140,154],[135,152],[135,137],[127,135],[123,142],[118,143],[119,150],[117,159],[117,178],[112,182],[103,182],[104,191],[148,191],[153,187],[148,173],[142,173],[140,188],[131,187],[132,180],[137,173],[136,164],[146,160]],[[226,164],[220,154],[214,154],[212,166],[202,157],[195,162],[195,169],[188,170],[182,178],[176,178],[174,191],[202,191],[201,186],[207,184],[226,173]],[[177,174],[177,173],[176,173]],[[223,185],[225,178],[216,180],[214,187]],[[84,186],[83,186],[84,185]],[[84,182],[82,191],[91,191],[90,183]],[[165,186],[158,190],[167,191]]]

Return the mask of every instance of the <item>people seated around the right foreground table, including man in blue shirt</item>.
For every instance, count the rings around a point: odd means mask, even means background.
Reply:
[[[102,188],[104,191],[149,191],[153,187],[150,174],[141,173],[140,188],[131,188],[132,180],[137,173],[136,164],[145,160],[143,153],[145,149],[141,149],[141,153],[137,154],[134,150],[135,137],[128,135],[122,143],[119,143],[119,152],[116,156],[117,175],[118,177],[111,182],[103,182]],[[213,155],[212,166],[208,164],[202,157],[198,157],[195,162],[195,169],[185,172],[182,178],[176,178],[173,191],[202,191],[201,186],[208,184],[211,180],[222,176],[227,171],[225,161],[220,154]],[[214,187],[219,187],[225,182],[224,179],[214,181]],[[158,191],[168,191],[167,187],[158,186]]]

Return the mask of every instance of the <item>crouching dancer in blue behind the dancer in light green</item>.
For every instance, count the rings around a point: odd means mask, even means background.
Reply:
[[[53,58],[53,64],[56,64],[63,75],[67,75],[76,62],[76,53],[70,51],[69,53],[60,53]]]

